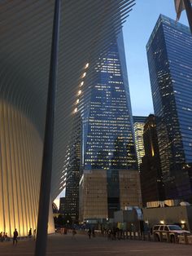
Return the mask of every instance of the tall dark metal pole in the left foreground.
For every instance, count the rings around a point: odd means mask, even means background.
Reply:
[[[41,188],[37,221],[36,256],[46,255],[47,226],[50,205],[50,184],[53,156],[54,120],[55,120],[55,90],[57,84],[57,67],[59,51],[59,20],[60,0],[55,0],[53,34],[50,55],[50,77],[46,105],[46,127],[41,167]]]

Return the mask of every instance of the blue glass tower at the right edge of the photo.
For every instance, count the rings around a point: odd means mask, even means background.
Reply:
[[[159,16],[146,46],[167,198],[192,202],[192,36]]]

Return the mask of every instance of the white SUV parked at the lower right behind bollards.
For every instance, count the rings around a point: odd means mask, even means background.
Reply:
[[[160,233],[162,233],[162,239],[167,241],[169,233],[170,241],[172,243],[175,242],[175,234],[180,236],[184,234],[190,235],[189,231],[183,230],[178,225],[155,225],[152,232],[155,237],[155,241],[160,241]]]

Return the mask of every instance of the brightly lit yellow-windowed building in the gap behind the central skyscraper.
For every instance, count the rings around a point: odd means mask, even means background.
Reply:
[[[134,129],[135,147],[137,152],[138,170],[140,170],[142,157],[144,157],[145,155],[144,144],[143,144],[143,130],[144,130],[145,121],[146,121],[146,117],[133,116],[133,129]]]

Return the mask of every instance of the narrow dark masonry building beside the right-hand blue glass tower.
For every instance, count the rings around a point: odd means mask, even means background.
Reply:
[[[162,182],[162,170],[160,166],[159,147],[155,116],[146,118],[143,130],[143,142],[145,156],[142,157],[140,166],[142,205],[149,201],[164,200],[164,184]]]

